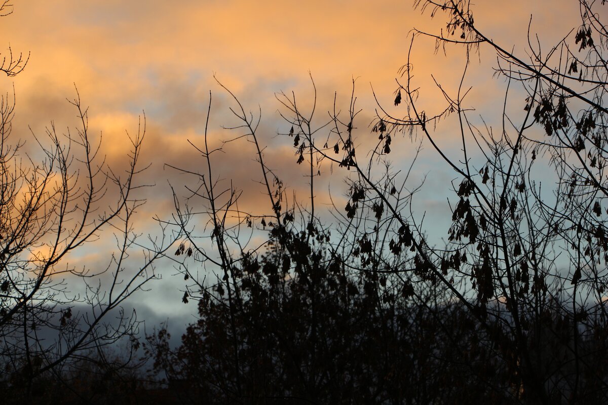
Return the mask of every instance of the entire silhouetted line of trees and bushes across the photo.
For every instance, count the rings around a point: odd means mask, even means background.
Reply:
[[[149,248],[139,273],[131,278],[113,259],[111,292],[104,294],[87,282],[89,274],[68,269],[91,291],[86,299],[96,312],[89,318],[72,315],[69,303],[56,298],[60,287],[50,276],[64,254],[105,223],[122,224],[125,243],[116,257],[128,256],[130,214],[140,201],[125,191],[136,188],[131,179],[139,173],[141,139],[133,140],[126,183],[90,169],[95,152],[86,111],[80,112],[77,143],[91,159],[78,162],[89,168],[88,186],[73,192],[71,182],[60,182],[63,188],[52,194],[59,198],[47,202],[55,208],[41,205],[32,213],[40,212],[36,223],[43,224],[79,213],[85,226],[46,242],[58,253],[30,261],[24,252],[62,228],[19,228],[24,213],[15,203],[10,208],[16,180],[5,169],[16,149],[6,149],[6,163],[0,162],[7,173],[3,196],[9,196],[0,209],[3,392],[14,403],[606,403],[608,30],[603,1],[578,4],[580,20],[567,36],[545,47],[530,32],[527,52],[519,54],[477,29],[468,1],[417,0],[424,15],[444,18],[446,28],[413,31],[410,51],[430,40],[438,51],[462,52],[466,67],[457,83],[435,81],[444,104],[423,105],[420,95],[430,90],[413,75],[415,53],[404,55],[394,105],[379,103],[370,125],[373,143],[370,131],[358,129],[367,123],[359,123],[354,83],[350,105],[334,105],[328,120],[315,111],[316,89],[314,103],[278,94],[280,135],[293,144],[294,165],[306,175],[305,197],[291,197],[290,185],[266,162],[260,115],[218,81],[237,121],[230,142],[252,147],[266,205],[241,209],[236,185],[218,180],[218,160],[227,157],[205,135],[193,145],[202,156],[198,171],[169,166],[190,180],[172,185],[173,216],[159,220],[172,237]],[[478,55],[487,53],[496,57],[494,74],[504,85],[503,94],[487,97],[500,100],[488,121],[493,126],[465,101],[474,91],[469,72],[481,69]],[[81,111],[78,100],[74,105]],[[10,117],[7,111],[2,117]],[[418,154],[405,167],[389,159],[397,148],[416,150],[413,143],[433,151],[455,176],[443,191],[452,216],[442,245],[430,242],[435,237],[423,226],[437,213],[421,216],[414,208],[424,187],[412,186],[410,177]],[[57,152],[49,158],[58,159],[67,179],[71,161],[59,141],[53,145]],[[331,209],[316,200],[319,176],[328,172],[346,182],[345,199],[334,199]],[[27,173],[18,179],[36,196],[40,183]],[[97,193],[114,195],[96,188],[95,175],[123,192],[116,194],[119,209],[91,222]],[[551,176],[554,181],[543,180]],[[71,208],[74,199],[85,205]],[[38,239],[15,236],[30,234]],[[119,326],[106,322],[154,277],[150,266],[158,257],[184,276],[182,301],[198,303],[198,321],[177,346],[166,325],[140,345],[136,318],[121,312]],[[41,321],[58,334],[55,344],[36,335]],[[112,354],[108,347],[121,341],[126,349]]]

